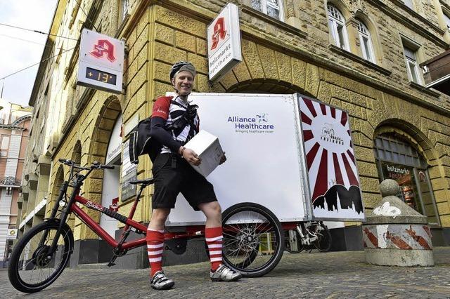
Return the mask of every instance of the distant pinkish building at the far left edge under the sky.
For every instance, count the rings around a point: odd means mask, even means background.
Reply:
[[[18,199],[31,121],[31,107],[0,98],[0,268],[17,236]]]

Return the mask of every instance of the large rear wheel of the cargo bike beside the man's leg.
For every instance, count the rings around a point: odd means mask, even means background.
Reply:
[[[262,277],[281,260],[284,234],[271,211],[254,203],[226,209],[222,219],[224,263],[245,277]]]

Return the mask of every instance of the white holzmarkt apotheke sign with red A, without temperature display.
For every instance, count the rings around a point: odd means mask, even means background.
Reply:
[[[209,74],[214,81],[242,61],[238,6],[225,6],[208,26],[207,39]]]

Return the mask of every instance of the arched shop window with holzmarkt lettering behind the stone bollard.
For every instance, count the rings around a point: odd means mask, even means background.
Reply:
[[[400,186],[397,196],[427,216],[430,224],[440,225],[428,164],[416,148],[400,135],[385,133],[375,138],[373,151],[380,180],[396,180]]]

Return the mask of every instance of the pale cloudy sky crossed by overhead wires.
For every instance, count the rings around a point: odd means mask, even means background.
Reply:
[[[0,0],[0,24],[49,32],[57,0]],[[41,60],[47,35],[0,25],[0,78]],[[0,79],[4,100],[27,106],[39,64]]]

